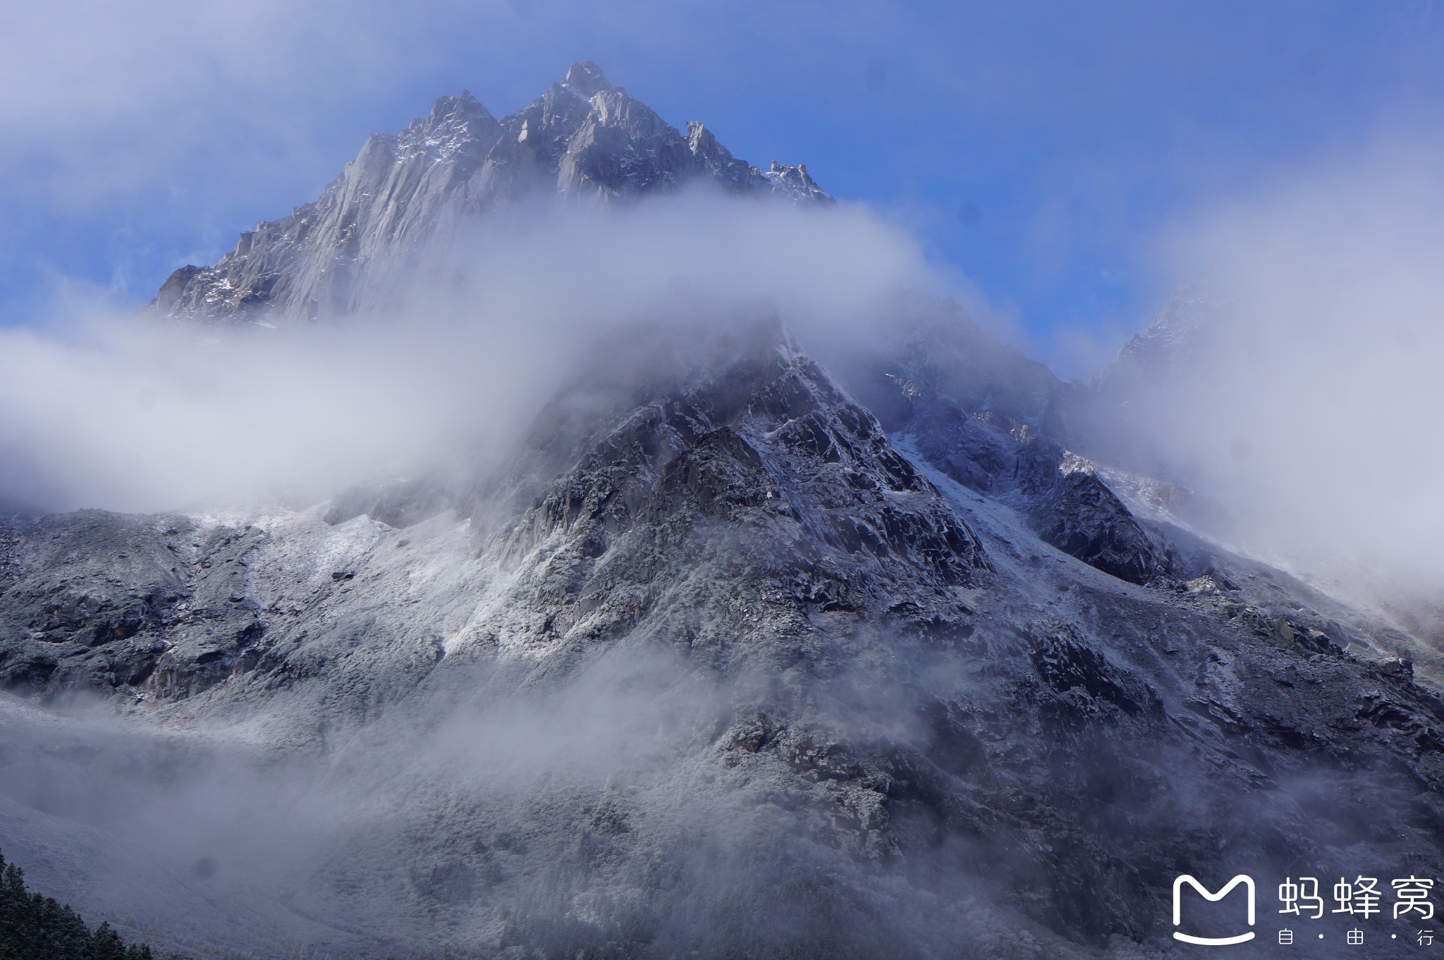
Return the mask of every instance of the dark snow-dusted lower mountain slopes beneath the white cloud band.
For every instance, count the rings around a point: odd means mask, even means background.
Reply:
[[[504,474],[390,491],[404,528],[339,508],[7,528],[7,684],[244,720],[401,790],[394,833],[306,881],[306,917],[391,943],[435,947],[440,915],[484,953],[1126,956],[1167,941],[1181,870],[1444,853],[1444,703],[1366,619],[1201,543],[1161,554],[1060,448],[956,403],[914,398],[900,449],[775,325],[592,355]],[[645,687],[683,717],[645,728],[661,767],[513,795],[365,759],[404,717],[429,717],[425,756],[461,702],[585,699],[569,684],[624,651],[677,658]],[[710,881],[682,798],[749,824]]]

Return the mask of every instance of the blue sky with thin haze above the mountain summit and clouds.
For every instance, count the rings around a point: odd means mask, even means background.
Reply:
[[[1191,221],[1428,143],[1444,104],[1425,0],[33,7],[0,14],[4,325],[77,289],[142,303],[312,199],[367,133],[461,88],[510,113],[589,58],[669,121],[908,225],[1086,372],[1070,344],[1147,322]]]

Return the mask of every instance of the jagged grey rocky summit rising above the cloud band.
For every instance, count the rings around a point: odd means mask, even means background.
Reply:
[[[429,251],[487,211],[543,195],[609,202],[708,182],[735,195],[830,202],[804,166],[760,170],[700,123],[683,134],[595,64],[497,120],[442,97],[400,134],[374,134],[313,204],[241,234],[214,267],[176,270],[165,316],[297,322],[384,306]]]

